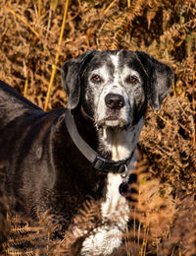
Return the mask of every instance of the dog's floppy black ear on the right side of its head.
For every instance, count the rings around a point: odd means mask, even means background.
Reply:
[[[172,69],[142,51],[136,54],[149,78],[147,95],[151,107],[160,109],[162,100],[168,96],[172,88]]]

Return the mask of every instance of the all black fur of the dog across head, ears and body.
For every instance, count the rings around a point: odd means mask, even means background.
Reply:
[[[96,151],[102,147],[93,123],[93,98],[85,99],[86,94],[91,96],[87,77],[116,53],[88,51],[62,68],[68,108],[73,109],[77,130]],[[145,100],[135,101],[134,124],[144,115],[147,100],[159,109],[171,89],[172,71],[143,52],[122,51],[120,56],[122,65],[134,66],[145,81]],[[107,65],[113,72],[112,65]],[[111,156],[110,152],[100,154]],[[63,230],[87,196],[100,200],[106,195],[107,175],[93,170],[73,144],[65,125],[65,109],[44,112],[4,82],[0,82],[0,163],[6,172],[5,190],[18,199],[13,209],[35,219],[37,212],[49,211],[61,220]]]

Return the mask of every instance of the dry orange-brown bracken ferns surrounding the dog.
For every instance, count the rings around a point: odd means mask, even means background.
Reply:
[[[130,214],[135,222],[125,234],[125,246],[116,255],[196,253],[195,10],[194,0],[0,3],[0,79],[42,108],[66,105],[60,68],[66,59],[89,48],[142,49],[172,66],[175,79],[171,95],[162,110],[149,109],[146,116],[140,145],[150,177],[138,172],[138,203],[131,206]],[[70,231],[63,243],[43,240],[35,249],[33,244],[40,235],[50,238],[53,225],[41,217],[40,223],[20,229],[19,219],[9,221],[6,217],[10,199],[0,191],[0,229],[4,230],[0,240],[3,243],[8,238],[5,250],[14,244],[21,251],[18,255],[78,253],[82,237],[73,237]],[[93,213],[87,206],[88,218],[99,214],[96,205],[90,205]],[[77,224],[83,221],[83,215],[78,218]],[[92,232],[94,227],[88,221]],[[13,229],[16,224],[18,229]],[[33,237],[29,236],[29,226],[35,227],[31,229]],[[26,247],[22,249],[20,242],[25,239]]]

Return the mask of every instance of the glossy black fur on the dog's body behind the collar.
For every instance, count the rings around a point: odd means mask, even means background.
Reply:
[[[99,200],[106,186],[106,176],[74,146],[64,116],[64,108],[44,112],[0,82],[0,163],[5,190],[18,199],[12,207],[32,218],[50,210],[63,229],[87,196]],[[92,145],[94,133],[83,123],[76,115],[77,128]]]

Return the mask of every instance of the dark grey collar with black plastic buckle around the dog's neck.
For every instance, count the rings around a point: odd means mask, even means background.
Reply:
[[[70,136],[73,140],[73,143],[80,151],[80,153],[92,163],[92,167],[94,169],[105,173],[123,173],[126,170],[129,161],[133,157],[134,151],[131,153],[130,157],[125,160],[115,161],[104,159],[99,154],[97,154],[92,148],[90,148],[90,146],[86,142],[84,142],[83,139],[80,137],[76,130],[73,116],[69,109],[66,109],[65,121]]]

